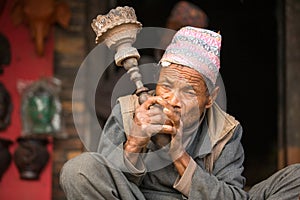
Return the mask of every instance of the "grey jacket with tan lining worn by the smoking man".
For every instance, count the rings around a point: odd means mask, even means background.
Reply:
[[[140,156],[138,166],[130,165],[123,157],[126,134],[122,112],[124,115],[120,104],[113,108],[103,129],[98,152],[122,170],[128,180],[136,183],[146,198],[248,198],[243,190],[242,127],[216,104],[208,110],[194,140],[186,148],[195,164],[189,165],[182,177],[179,177],[166,151],[156,153],[158,151],[151,143],[147,153]]]

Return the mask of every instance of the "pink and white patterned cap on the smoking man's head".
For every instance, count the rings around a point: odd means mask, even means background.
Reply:
[[[220,69],[221,35],[203,28],[186,26],[174,35],[160,64],[171,63],[197,70],[214,85]]]

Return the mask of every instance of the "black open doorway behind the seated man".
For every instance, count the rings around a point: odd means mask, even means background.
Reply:
[[[165,27],[177,0],[118,0],[144,27]],[[277,169],[277,17],[275,0],[190,1],[222,35],[221,75],[227,112],[243,126],[247,185]]]

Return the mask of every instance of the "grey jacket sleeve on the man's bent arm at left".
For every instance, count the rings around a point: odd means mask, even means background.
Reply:
[[[123,143],[125,141],[126,136],[123,128],[120,105],[117,104],[113,108],[102,130],[98,152],[112,164],[112,167],[122,171],[129,181],[138,185],[142,181],[146,169],[142,158],[138,160],[138,167],[135,167],[126,159],[123,150]]]

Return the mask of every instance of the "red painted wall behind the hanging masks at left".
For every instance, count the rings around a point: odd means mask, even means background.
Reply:
[[[13,154],[17,147],[16,139],[21,134],[20,94],[17,90],[19,80],[36,80],[41,76],[53,75],[53,33],[50,34],[45,46],[45,56],[38,57],[31,41],[29,30],[25,25],[14,26],[9,16],[12,0],[8,0],[4,12],[0,15],[0,32],[4,34],[11,46],[11,63],[4,68],[0,81],[8,89],[13,102],[11,124],[6,131],[0,132],[1,138],[14,142],[10,146]],[[19,178],[14,162],[4,173],[0,181],[1,200],[47,200],[51,199],[52,187],[52,144],[48,145],[50,160],[37,181],[26,181]]]

